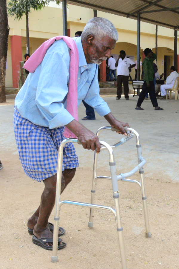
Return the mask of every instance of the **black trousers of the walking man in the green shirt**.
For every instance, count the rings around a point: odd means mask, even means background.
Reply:
[[[149,83],[150,83],[150,87],[147,87],[146,81],[143,82],[142,91],[139,94],[139,99],[138,99],[138,102],[137,102],[137,106],[141,106],[143,100],[146,97],[147,92],[150,95],[150,100],[152,102],[153,107],[158,106],[157,98],[156,98],[156,95],[155,95],[154,81],[153,80],[149,81]]]

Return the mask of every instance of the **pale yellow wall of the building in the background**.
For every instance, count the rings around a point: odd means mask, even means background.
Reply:
[[[70,35],[73,37],[76,31],[83,31],[84,26],[89,19],[93,17],[93,10],[76,5],[69,5],[67,8],[67,28],[70,29]],[[109,19],[114,23],[118,30],[119,39],[116,43],[112,54],[119,54],[121,49],[126,51],[127,55],[137,58],[137,20],[129,19],[117,15],[112,15],[107,12],[98,11],[98,16]],[[80,19],[81,18],[81,19]],[[10,33],[8,39],[8,53],[6,70],[6,87],[12,87],[12,64],[11,64],[11,45],[10,36],[22,36],[22,59],[26,50],[26,18],[22,20],[14,20],[13,17],[8,17]],[[29,13],[29,36],[30,36],[30,54],[32,54],[45,40],[63,35],[63,20],[62,6],[57,6],[55,3],[51,7],[45,7],[41,11],[32,10]],[[155,25],[141,22],[141,58],[142,50],[151,48],[155,51]],[[168,49],[170,49],[170,51]],[[174,30],[166,27],[158,26],[158,69],[159,73],[163,72],[164,55],[172,56],[173,64],[173,49],[174,49]],[[179,54],[179,42],[178,42]],[[130,73],[134,77],[135,70],[133,68]]]

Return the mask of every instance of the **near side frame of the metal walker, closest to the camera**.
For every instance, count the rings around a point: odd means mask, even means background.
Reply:
[[[75,202],[64,200],[60,201],[60,191],[61,191],[61,173],[62,173],[62,160],[63,160],[63,148],[64,145],[68,142],[78,143],[77,139],[68,138],[61,142],[58,150],[58,168],[57,168],[57,183],[56,183],[56,195],[55,195],[55,217],[54,217],[54,230],[53,230],[53,250],[51,256],[51,262],[58,261],[58,223],[59,223],[59,214],[60,208],[62,204],[72,204],[78,205],[82,207],[90,207],[96,209],[104,209],[110,210],[115,215],[116,225],[117,225],[117,232],[118,232],[118,240],[119,240],[119,247],[121,253],[121,265],[122,269],[127,269],[126,264],[126,254],[125,254],[125,247],[124,247],[124,236],[123,236],[123,227],[121,224],[121,213],[120,213],[120,206],[119,206],[119,190],[118,190],[118,179],[116,175],[116,165],[114,160],[114,154],[112,147],[109,146],[104,141],[100,141],[100,144],[103,148],[106,148],[109,152],[109,166],[111,171],[111,181],[112,181],[112,189],[113,189],[113,198],[115,203],[115,210],[112,207],[107,207],[103,205],[96,205],[96,204],[87,204],[82,202]]]

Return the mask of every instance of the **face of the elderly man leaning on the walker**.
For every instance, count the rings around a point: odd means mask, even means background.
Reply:
[[[87,49],[88,62],[100,65],[103,60],[110,58],[111,50],[114,49],[116,41],[109,36],[102,39],[93,38]]]

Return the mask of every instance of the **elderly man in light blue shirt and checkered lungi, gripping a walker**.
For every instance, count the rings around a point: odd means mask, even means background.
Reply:
[[[40,206],[28,219],[27,227],[34,234],[33,243],[47,250],[52,250],[53,244],[53,225],[48,219],[55,203],[58,147],[65,139],[64,126],[67,133],[71,131],[78,137],[84,149],[100,152],[98,136],[75,119],[77,106],[85,100],[121,134],[126,135],[124,126],[129,126],[113,117],[99,95],[98,65],[110,57],[116,40],[114,25],[95,17],[84,27],[81,37],[55,37],[44,42],[25,66],[31,73],[16,96],[14,129],[24,172],[44,182]],[[72,143],[68,143],[64,147],[61,192],[74,177],[76,167],[78,157]],[[59,236],[63,233],[59,227]],[[58,239],[58,249],[65,246]]]

